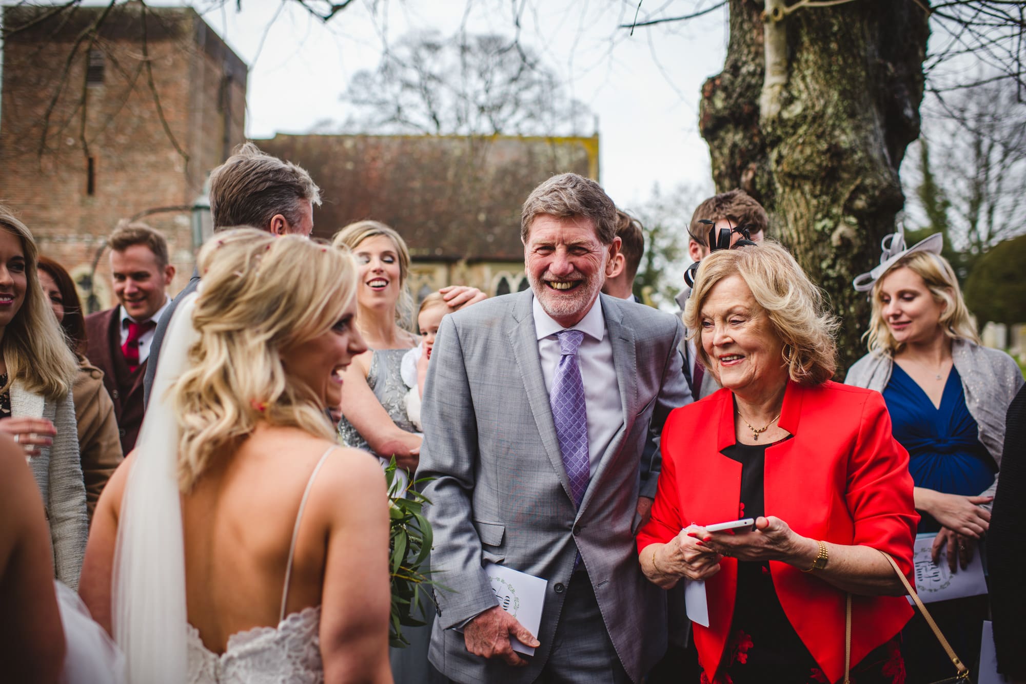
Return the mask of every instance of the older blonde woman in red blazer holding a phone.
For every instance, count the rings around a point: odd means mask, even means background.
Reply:
[[[853,679],[902,682],[918,515],[908,454],[877,392],[834,372],[836,326],[779,245],[707,257],[684,311],[722,389],[670,414],[652,520],[638,535],[655,584],[705,581],[694,624],[702,682],[835,682],[853,595]],[[704,525],[755,518],[754,529]]]

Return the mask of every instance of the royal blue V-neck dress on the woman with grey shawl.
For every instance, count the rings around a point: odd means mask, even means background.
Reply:
[[[954,367],[944,385],[940,408],[934,407],[898,364],[883,389],[883,400],[895,439],[908,451],[908,469],[915,486],[976,497],[993,483],[997,467],[980,442],[979,427],[965,407],[961,377]],[[922,513],[917,531],[940,530],[937,520]]]

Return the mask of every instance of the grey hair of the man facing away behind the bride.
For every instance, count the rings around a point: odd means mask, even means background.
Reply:
[[[303,167],[260,151],[252,142],[210,173],[213,228],[252,225],[264,230],[281,214],[292,225],[303,217],[302,202],[320,206],[320,188]]]

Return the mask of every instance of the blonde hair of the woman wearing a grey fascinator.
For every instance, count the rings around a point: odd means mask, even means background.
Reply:
[[[897,268],[908,268],[925,284],[934,301],[944,305],[939,324],[944,334],[953,340],[972,340],[980,344],[980,336],[976,332],[976,319],[969,312],[965,300],[962,299],[958,279],[948,260],[940,254],[932,252],[913,252],[895,262],[891,268],[873,284],[873,294],[870,298],[872,310],[869,314],[869,330],[863,336],[869,340],[869,351],[893,356],[905,346],[900,344],[891,334],[891,328],[883,319],[883,302],[880,301],[880,286],[889,273]]]

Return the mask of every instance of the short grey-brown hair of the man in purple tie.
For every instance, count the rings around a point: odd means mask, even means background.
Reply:
[[[591,219],[603,245],[611,245],[617,237],[617,206],[601,185],[576,173],[552,176],[531,190],[520,212],[520,240],[525,245],[530,224],[541,214]]]

